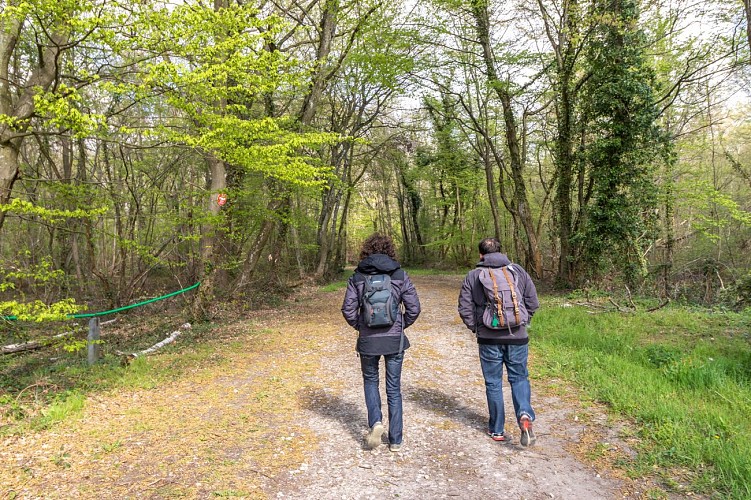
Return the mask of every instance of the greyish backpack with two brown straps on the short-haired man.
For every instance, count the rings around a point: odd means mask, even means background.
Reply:
[[[482,324],[493,330],[511,329],[529,323],[524,299],[519,297],[516,275],[511,265],[486,267],[480,273],[485,292]]]

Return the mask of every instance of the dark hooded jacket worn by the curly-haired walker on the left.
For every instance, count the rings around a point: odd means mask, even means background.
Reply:
[[[365,286],[363,275],[381,273],[391,276],[391,295],[397,304],[404,306],[404,310],[402,312],[402,307],[399,307],[400,314],[393,325],[368,328],[360,322],[360,301]],[[367,355],[395,354],[399,352],[404,329],[412,325],[420,315],[420,300],[417,298],[415,286],[398,262],[388,255],[373,254],[360,262],[355,274],[347,282],[342,315],[352,328],[360,332],[357,352]],[[408,347],[409,340],[405,335],[403,349]]]

